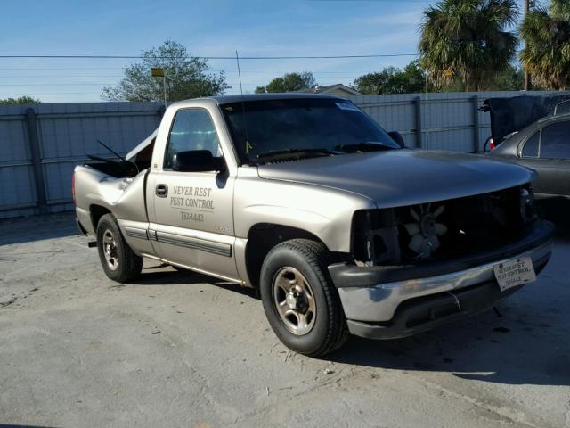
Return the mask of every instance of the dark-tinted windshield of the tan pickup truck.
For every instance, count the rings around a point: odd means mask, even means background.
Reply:
[[[343,154],[354,148],[362,152],[400,148],[373,119],[346,100],[290,98],[230,103],[221,108],[241,163],[267,161],[273,153],[283,159],[288,153],[299,158]]]

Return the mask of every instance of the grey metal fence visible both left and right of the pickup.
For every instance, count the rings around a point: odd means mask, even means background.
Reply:
[[[407,145],[480,152],[489,135],[490,97],[517,92],[350,97]],[[71,173],[86,154],[108,156],[96,140],[126,153],[157,128],[161,103],[0,105],[0,218],[73,209]]]

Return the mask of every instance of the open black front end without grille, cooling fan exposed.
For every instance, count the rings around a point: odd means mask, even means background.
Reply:
[[[393,266],[486,251],[516,242],[536,219],[530,185],[447,201],[360,210],[353,219],[357,266]]]

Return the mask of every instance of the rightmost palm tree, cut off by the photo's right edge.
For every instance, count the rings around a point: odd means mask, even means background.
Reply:
[[[551,0],[548,10],[528,12],[520,34],[525,40],[520,62],[533,85],[561,90],[570,86],[570,2]]]

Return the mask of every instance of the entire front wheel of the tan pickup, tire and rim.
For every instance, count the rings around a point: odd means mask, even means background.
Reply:
[[[273,332],[290,350],[320,357],[346,342],[348,330],[322,243],[294,239],[269,251],[260,292]]]

